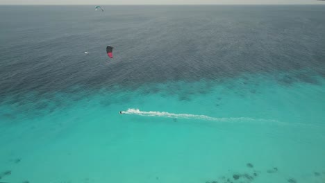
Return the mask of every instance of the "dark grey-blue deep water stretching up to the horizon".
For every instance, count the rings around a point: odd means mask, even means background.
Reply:
[[[325,75],[323,6],[107,6],[103,13],[1,6],[0,13],[7,17],[1,96],[303,70],[276,78],[287,85]]]

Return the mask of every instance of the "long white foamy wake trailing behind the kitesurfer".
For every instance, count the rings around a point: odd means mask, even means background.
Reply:
[[[131,114],[138,116],[151,116],[151,117],[165,117],[172,119],[199,119],[205,121],[220,121],[220,122],[235,122],[235,121],[260,121],[260,122],[277,122],[276,120],[268,120],[268,119],[253,119],[249,117],[230,117],[230,118],[216,118],[206,115],[197,115],[197,114],[174,114],[169,112],[158,112],[158,111],[140,111],[139,109],[128,109],[126,111],[122,111],[123,114]]]

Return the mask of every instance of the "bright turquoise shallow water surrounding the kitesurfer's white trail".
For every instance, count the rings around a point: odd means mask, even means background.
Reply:
[[[60,107],[17,116],[10,114],[28,103],[3,104],[1,171],[12,175],[2,179],[324,182],[323,83],[283,86],[272,76],[247,75],[132,92],[80,91],[77,99],[57,93],[52,101],[66,98]]]

